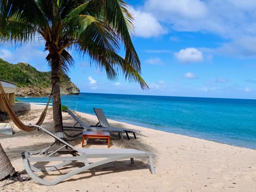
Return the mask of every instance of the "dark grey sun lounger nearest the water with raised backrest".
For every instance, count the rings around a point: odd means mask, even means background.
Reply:
[[[99,120],[99,123],[97,123],[96,125],[94,126],[99,126],[99,127],[106,127],[108,129],[121,129],[121,128],[117,128],[117,127],[112,127],[109,125],[108,123],[108,119],[107,117],[105,116],[104,112],[102,109],[100,108],[93,108],[98,120]],[[135,130],[131,130],[131,129],[123,129],[124,132],[126,133],[126,137],[128,140],[130,140],[130,137],[128,135],[128,133],[133,133],[133,136],[134,136],[134,139],[137,139],[136,138],[136,135],[135,135]]]

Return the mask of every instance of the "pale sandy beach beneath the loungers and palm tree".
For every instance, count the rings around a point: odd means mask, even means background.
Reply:
[[[19,118],[23,123],[35,123],[42,106],[31,105]],[[75,112],[86,125],[97,123],[93,115]],[[156,174],[151,174],[147,159],[135,159],[105,164],[74,175],[55,186],[44,186],[34,180],[0,181],[0,191],[255,191],[256,150],[229,146],[217,142],[147,129],[109,120],[111,126],[135,129],[137,139],[112,135],[110,148],[134,148],[155,155]],[[63,124],[73,125],[74,119],[63,113]],[[51,109],[42,125],[53,132]],[[23,132],[14,127],[15,134],[0,134],[1,145],[16,171],[26,173],[21,153],[40,150],[54,141],[42,132]],[[81,148],[81,139],[71,141]],[[100,144],[100,145],[99,145]],[[106,143],[86,143],[86,148],[106,148]]]

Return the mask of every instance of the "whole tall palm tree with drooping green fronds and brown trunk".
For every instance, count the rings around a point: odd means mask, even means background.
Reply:
[[[122,73],[130,82],[148,89],[129,34],[133,18],[123,0],[4,0],[0,6],[0,40],[24,44],[39,37],[45,41],[56,133],[63,132],[60,77],[73,66],[71,49],[105,69],[109,79]],[[119,55],[121,45],[124,57]]]

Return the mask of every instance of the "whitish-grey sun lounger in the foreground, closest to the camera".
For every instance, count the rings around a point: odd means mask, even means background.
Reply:
[[[51,135],[51,137],[62,144],[58,146],[58,149],[54,149],[52,151],[50,150],[52,146],[50,146],[42,151],[25,151],[22,153],[23,164],[27,173],[31,178],[43,185],[56,185],[57,183],[75,174],[92,169],[93,167],[127,158],[130,158],[131,163],[134,163],[133,158],[148,157],[150,171],[152,174],[155,174],[153,154],[147,153],[146,151],[137,149],[77,149],[71,146],[68,142],[57,137],[55,134],[44,129],[44,127],[35,124],[31,124],[31,126],[38,127],[38,130],[42,130],[45,133]],[[99,160],[93,163],[89,163],[89,158],[93,158],[93,160],[95,160],[94,158],[99,158]],[[39,169],[39,167],[36,167],[37,165],[39,166],[41,164],[41,166],[45,165],[46,168],[46,162],[55,162],[57,164],[51,165],[47,169]],[[83,166],[77,167],[77,165],[75,165],[74,169],[70,172],[58,176],[61,173],[62,168],[65,168],[65,166],[70,167],[75,162],[82,162]],[[51,171],[56,170],[58,170],[58,174],[55,175],[56,178],[50,181],[39,177],[35,173],[47,172],[45,175],[49,175]]]

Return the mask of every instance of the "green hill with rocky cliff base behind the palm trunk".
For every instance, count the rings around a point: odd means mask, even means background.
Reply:
[[[28,63],[15,65],[0,59],[0,79],[17,84],[17,97],[40,97],[51,93],[51,72],[38,71]],[[63,78],[60,86],[61,94],[79,94],[78,87]]]

